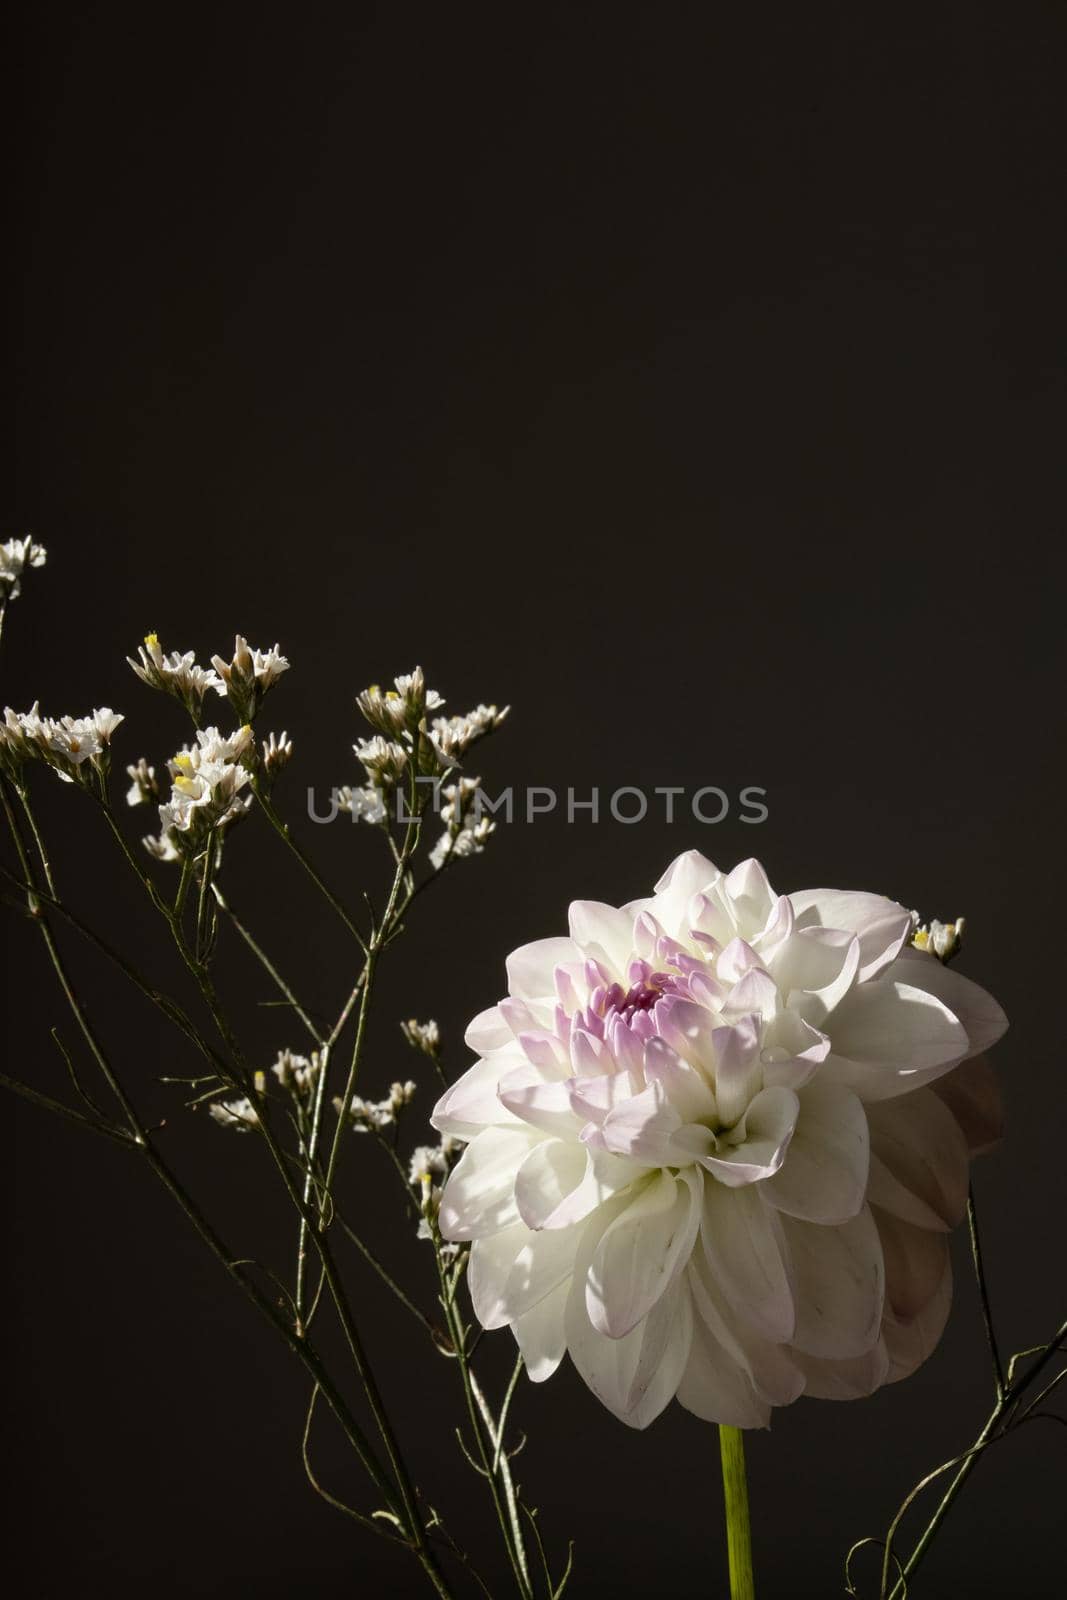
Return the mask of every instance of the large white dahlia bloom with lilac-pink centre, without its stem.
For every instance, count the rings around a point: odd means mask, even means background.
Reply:
[[[509,957],[432,1118],[467,1141],[438,1222],[483,1326],[534,1381],[569,1352],[633,1427],[673,1397],[761,1427],[913,1371],[997,1131],[987,1066],[945,1074],[1000,1037],[995,1000],[909,946],[902,906],[777,896],[755,861],[691,851],[569,928]]]

